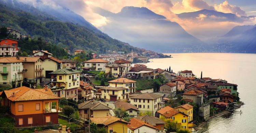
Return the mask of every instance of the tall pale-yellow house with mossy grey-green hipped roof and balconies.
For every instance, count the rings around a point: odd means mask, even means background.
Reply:
[[[80,71],[64,68],[49,74],[52,75],[51,89],[54,95],[77,100],[77,89],[80,87]]]

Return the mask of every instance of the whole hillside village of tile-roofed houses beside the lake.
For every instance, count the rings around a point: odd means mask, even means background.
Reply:
[[[148,61],[133,51],[92,53],[79,63],[47,50],[20,56],[17,40],[0,41],[0,120],[14,124],[6,131],[196,133],[201,122],[243,104],[236,84],[203,72],[132,64]]]

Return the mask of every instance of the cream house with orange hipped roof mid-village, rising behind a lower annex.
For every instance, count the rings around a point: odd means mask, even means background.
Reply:
[[[127,88],[130,93],[136,91],[136,82],[137,81],[123,77],[108,81],[110,87],[124,87]]]

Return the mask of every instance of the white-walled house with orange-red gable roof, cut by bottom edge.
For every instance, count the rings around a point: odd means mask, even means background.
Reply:
[[[132,118],[128,125],[128,133],[158,133],[158,129],[146,121]]]

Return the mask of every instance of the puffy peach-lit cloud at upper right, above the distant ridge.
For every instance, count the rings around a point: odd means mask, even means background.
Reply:
[[[243,11],[239,6],[230,5],[227,0],[219,5],[214,5],[214,8],[216,9],[216,11],[224,13],[233,13],[236,14],[238,17],[247,16],[245,11]]]

